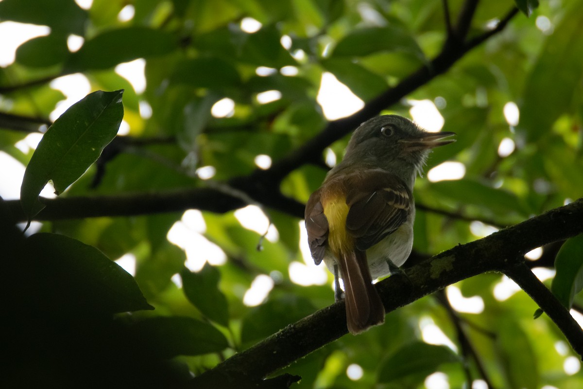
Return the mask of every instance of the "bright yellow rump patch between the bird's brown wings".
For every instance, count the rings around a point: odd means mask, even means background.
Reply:
[[[346,216],[348,215],[348,205],[346,198],[342,195],[338,197],[328,197],[322,199],[324,215],[328,219],[328,247],[334,255],[341,252],[353,250],[354,239],[346,232]]]

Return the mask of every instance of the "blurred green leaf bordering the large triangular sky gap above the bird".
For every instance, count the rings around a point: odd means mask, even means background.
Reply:
[[[377,73],[347,58],[330,58],[322,66],[363,100],[371,100],[387,89],[387,81]]]

